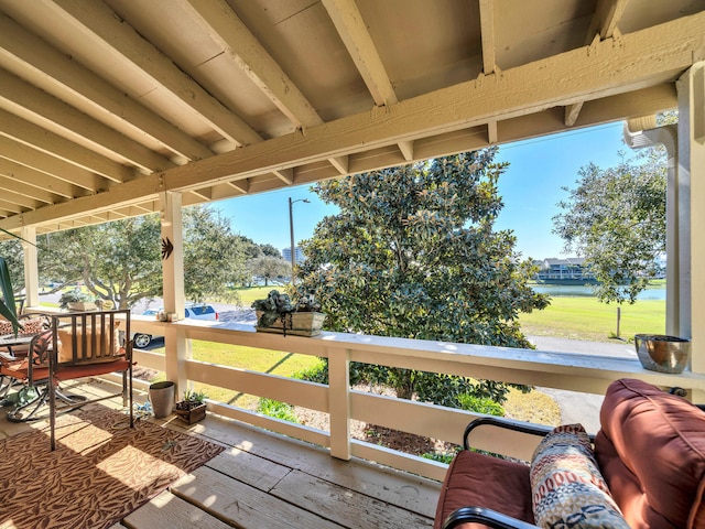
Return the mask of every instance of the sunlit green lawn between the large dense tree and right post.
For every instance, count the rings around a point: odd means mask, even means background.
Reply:
[[[665,332],[665,301],[644,300],[633,305],[605,304],[595,298],[552,298],[543,311],[521,314],[524,334],[608,342],[617,334],[617,307],[621,307],[619,336]]]

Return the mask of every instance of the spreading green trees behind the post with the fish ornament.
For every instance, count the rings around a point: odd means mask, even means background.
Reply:
[[[245,269],[241,239],[216,210],[189,207],[183,215],[186,298],[234,299],[229,287],[242,280]],[[58,231],[39,248],[43,281],[83,282],[97,299],[121,309],[162,293],[158,215]]]

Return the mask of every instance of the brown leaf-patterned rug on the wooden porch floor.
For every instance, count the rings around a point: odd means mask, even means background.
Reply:
[[[101,529],[224,447],[100,404],[0,441],[0,528]]]

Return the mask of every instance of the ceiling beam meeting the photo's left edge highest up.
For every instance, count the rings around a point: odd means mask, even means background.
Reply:
[[[18,69],[30,68],[51,78],[57,90],[70,90],[101,114],[129,123],[141,134],[148,134],[175,154],[187,160],[213,155],[202,143],[137,102],[89,69],[73,61],[46,42],[0,13],[0,48]]]

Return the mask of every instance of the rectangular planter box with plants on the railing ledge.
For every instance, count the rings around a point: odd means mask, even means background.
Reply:
[[[317,336],[326,317],[313,294],[301,295],[294,303],[278,290],[270,291],[264,300],[256,300],[252,309],[257,314],[257,331],[284,336]]]

